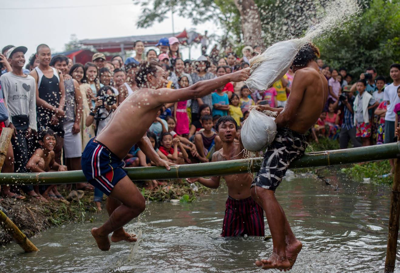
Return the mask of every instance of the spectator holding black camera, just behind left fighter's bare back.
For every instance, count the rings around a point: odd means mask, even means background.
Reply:
[[[103,86],[97,93],[95,107],[86,117],[86,126],[95,125],[94,133],[97,136],[111,120],[112,113],[117,109],[116,96],[111,86]]]

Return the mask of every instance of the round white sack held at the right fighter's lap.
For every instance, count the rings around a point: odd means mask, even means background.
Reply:
[[[275,116],[277,114],[270,113]],[[273,118],[255,109],[250,110],[240,130],[244,148],[248,151],[260,151],[274,140],[275,135],[276,123]]]

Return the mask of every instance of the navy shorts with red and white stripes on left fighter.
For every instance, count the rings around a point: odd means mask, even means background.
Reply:
[[[90,139],[82,153],[82,171],[88,182],[107,196],[128,171],[125,162],[95,138]]]

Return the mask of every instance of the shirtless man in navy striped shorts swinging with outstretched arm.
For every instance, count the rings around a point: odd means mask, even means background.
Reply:
[[[82,171],[88,182],[108,195],[106,208],[110,215],[92,235],[101,250],[110,249],[111,241],[136,241],[134,235],[122,228],[145,209],[145,200],[138,188],[126,175],[122,160],[134,144],[138,144],[150,160],[170,169],[174,165],[164,161],[154,151],[146,131],[166,103],[202,98],[228,82],[241,82],[250,76],[248,69],[212,80],[200,81],[187,88],[165,88],[168,81],[160,64],[142,62],[136,72],[138,90],[118,106],[107,126],[86,145],[82,154]]]

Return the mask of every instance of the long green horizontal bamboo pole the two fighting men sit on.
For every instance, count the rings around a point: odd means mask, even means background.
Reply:
[[[374,145],[368,147],[350,148],[333,151],[306,153],[300,159],[293,161],[289,168],[322,167],[348,163],[377,161],[397,158],[400,155],[400,143]],[[249,170],[258,171],[262,158],[238,159],[222,162],[210,162],[190,165],[177,165],[167,171],[163,167],[126,168],[132,180],[176,179],[186,177],[228,175],[245,173]],[[82,171],[66,171],[51,173],[0,173],[0,185],[15,183],[39,184],[69,184],[86,181]]]

